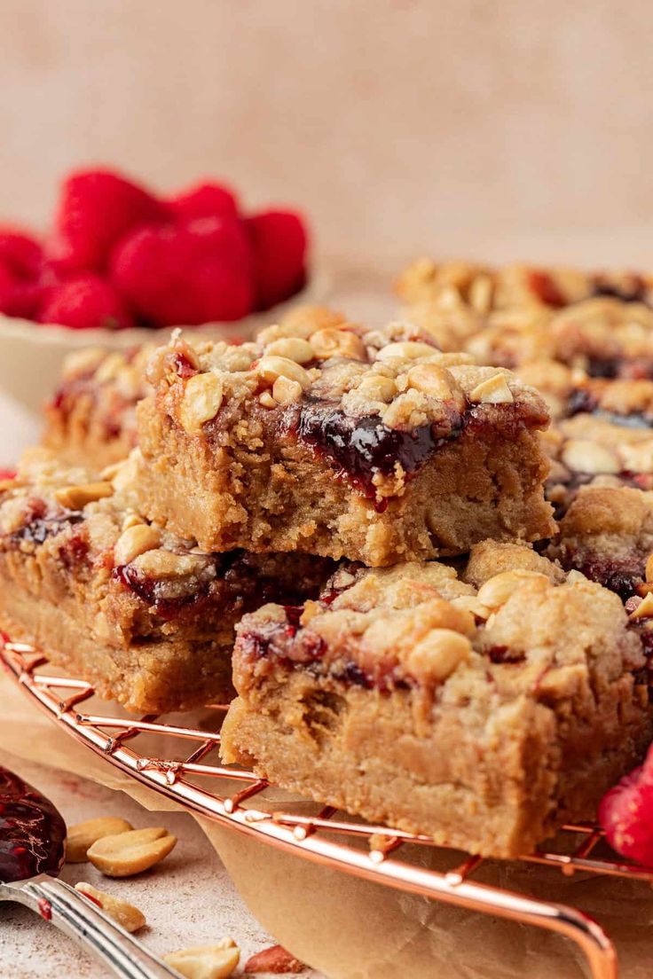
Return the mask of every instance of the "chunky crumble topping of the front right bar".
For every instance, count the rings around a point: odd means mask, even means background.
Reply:
[[[644,665],[618,596],[529,547],[477,545],[465,578],[438,562],[343,569],[318,601],[246,616],[236,669],[264,676],[303,666],[455,699],[477,683],[499,697],[573,695],[578,684],[598,689]]]

